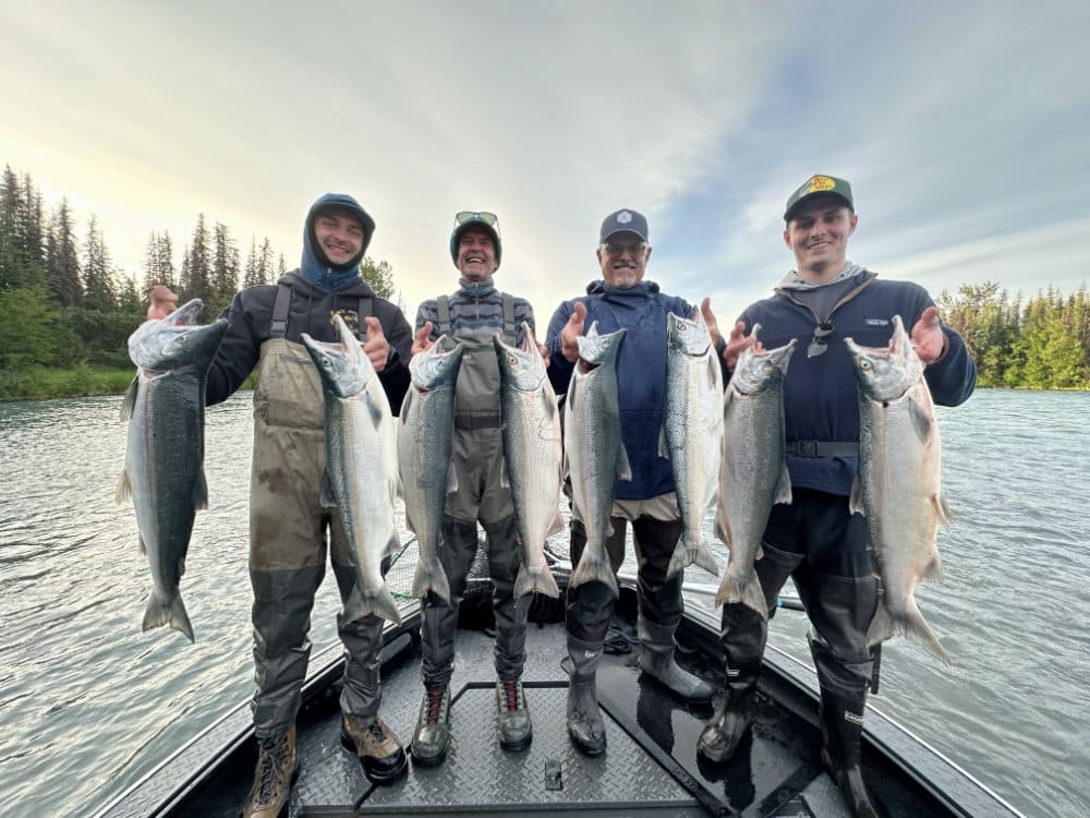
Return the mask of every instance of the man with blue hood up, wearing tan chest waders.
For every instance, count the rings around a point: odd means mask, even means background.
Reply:
[[[332,318],[340,315],[362,339],[395,411],[409,386],[409,323],[360,276],[374,231],[374,219],[351,196],[318,199],[306,216],[299,269],[234,297],[223,313],[228,329],[208,372],[211,405],[226,400],[261,368],[250,497],[257,684],[252,709],[258,759],[244,818],[280,815],[299,772],[294,722],[311,653],[311,610],[325,576],[327,536],[342,600],[355,584],[344,527],[335,509],[322,505],[322,386],[300,335],[337,342]],[[162,317],[173,301],[177,296],[169,291],[153,292],[148,317]],[[382,634],[377,616],[347,625],[338,617],[346,649],[341,739],[377,783],[392,781],[407,767],[398,737],[378,718]]]

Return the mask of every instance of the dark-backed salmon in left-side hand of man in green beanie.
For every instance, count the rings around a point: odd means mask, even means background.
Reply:
[[[405,525],[416,534],[419,558],[412,596],[428,591],[450,604],[450,584],[439,563],[439,534],[448,492],[458,490],[450,446],[455,429],[455,385],[465,348],[440,336],[409,364],[412,383],[401,405],[398,468],[404,491]]]

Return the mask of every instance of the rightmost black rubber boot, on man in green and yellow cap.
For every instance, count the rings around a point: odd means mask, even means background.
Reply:
[[[860,766],[865,701],[865,689],[849,699],[822,688],[821,732],[825,746],[821,760],[844,793],[855,818],[886,818],[885,811],[871,799]]]

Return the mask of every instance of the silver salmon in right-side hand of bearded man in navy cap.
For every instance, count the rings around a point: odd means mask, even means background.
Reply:
[[[719,575],[704,516],[718,495],[723,459],[723,371],[700,310],[693,318],[666,316],[666,394],[658,456],[670,461],[685,529],[667,577],[687,565]]]

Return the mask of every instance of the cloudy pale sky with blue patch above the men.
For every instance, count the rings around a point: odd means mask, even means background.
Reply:
[[[645,213],[649,278],[732,318],[791,266],[787,195],[851,181],[849,258],[937,296],[1090,279],[1090,7],[1074,2],[4,3],[0,161],[122,265],[198,213],[298,263],[327,191],[378,224],[410,320],[499,214],[538,322]],[[180,258],[178,260],[180,261]]]

